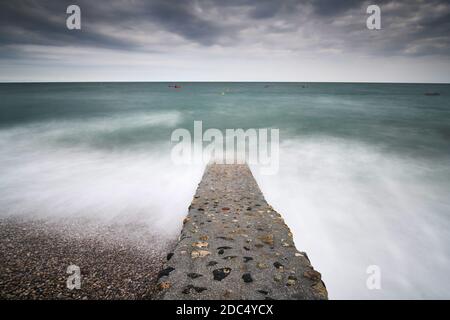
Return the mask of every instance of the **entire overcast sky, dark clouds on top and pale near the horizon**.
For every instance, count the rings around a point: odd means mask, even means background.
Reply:
[[[1,0],[0,81],[449,83],[450,1]]]

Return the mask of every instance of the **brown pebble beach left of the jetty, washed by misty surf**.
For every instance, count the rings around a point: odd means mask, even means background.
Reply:
[[[0,219],[0,299],[151,299],[172,245],[142,224]]]

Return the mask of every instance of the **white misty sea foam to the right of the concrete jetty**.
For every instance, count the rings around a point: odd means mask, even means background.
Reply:
[[[450,200],[438,182],[445,170],[361,143],[310,138],[281,145],[278,175],[252,171],[330,298],[377,299],[448,298]],[[369,265],[381,268],[381,290],[366,287]]]

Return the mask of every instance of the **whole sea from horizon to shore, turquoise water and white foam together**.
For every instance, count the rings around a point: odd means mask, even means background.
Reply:
[[[171,237],[203,169],[171,163],[171,132],[279,128],[278,174],[253,171],[331,298],[450,298],[450,85],[168,85],[0,84],[1,214],[132,215]]]

